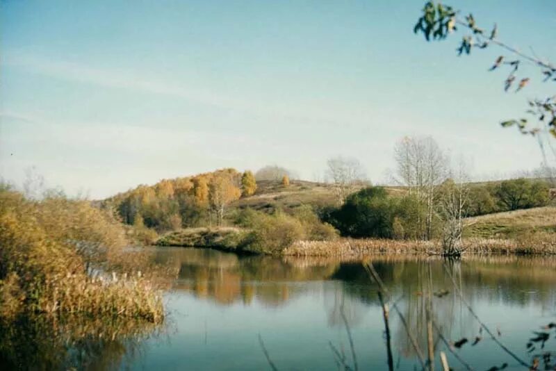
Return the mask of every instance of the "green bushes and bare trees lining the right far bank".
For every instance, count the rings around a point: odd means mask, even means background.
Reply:
[[[355,238],[441,238],[461,242],[465,217],[545,206],[550,201],[547,179],[510,179],[471,183],[463,163],[456,167],[433,138],[402,138],[394,148],[393,181],[400,186],[364,187],[355,160],[335,158],[328,165],[338,206],[323,208],[321,219],[343,236]],[[347,195],[346,195],[347,194]]]

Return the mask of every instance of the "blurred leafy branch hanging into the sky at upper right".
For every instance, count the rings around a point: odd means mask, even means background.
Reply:
[[[468,31],[461,39],[457,48],[459,56],[466,53],[471,54],[473,49],[486,49],[492,44],[510,53],[510,56],[499,56],[490,67],[489,71],[505,68],[509,71],[505,81],[504,90],[508,92],[513,89],[515,92],[523,90],[531,81],[529,76],[518,76],[519,68],[525,63],[532,64],[539,68],[543,76],[543,81],[556,81],[556,67],[552,63],[541,60],[536,55],[529,55],[510,47],[505,42],[498,39],[498,26],[494,24],[490,31],[478,26],[473,14],[469,13],[463,19],[459,17],[461,12],[451,6],[441,3],[428,1],[423,8],[423,15],[419,17],[414,26],[414,33],[422,33],[425,40],[444,40],[450,33],[458,30],[461,26]],[[533,52],[534,54],[534,52]],[[539,121],[539,126],[528,128],[528,119],[509,119],[501,122],[503,127],[516,126],[523,134],[538,135],[542,127],[556,138],[556,95],[543,99],[529,101],[530,109],[527,113],[533,115]],[[555,152],[556,157],[556,152]]]

